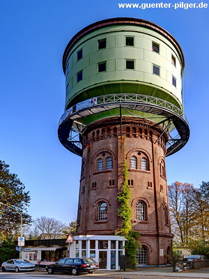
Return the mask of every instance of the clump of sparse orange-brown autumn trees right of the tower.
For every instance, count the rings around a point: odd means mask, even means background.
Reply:
[[[172,232],[176,241],[200,254],[209,256],[209,182],[199,188],[176,181],[168,186]],[[206,252],[206,250],[208,252]]]

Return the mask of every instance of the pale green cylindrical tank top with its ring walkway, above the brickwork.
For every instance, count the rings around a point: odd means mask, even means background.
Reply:
[[[189,139],[183,113],[184,66],[176,39],[152,22],[122,17],[85,27],[63,54],[66,99],[59,140],[82,156],[85,126],[134,116],[160,123],[170,135],[167,156],[175,153]]]

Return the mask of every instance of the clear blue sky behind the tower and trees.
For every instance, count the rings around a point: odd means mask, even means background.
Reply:
[[[0,160],[30,191],[33,219],[47,216],[69,223],[77,217],[81,158],[65,149],[57,137],[65,104],[62,55],[77,31],[109,17],[155,22],[180,43],[191,136],[182,150],[167,158],[168,183],[198,187],[201,181],[209,181],[208,8],[118,8],[118,3],[142,1],[0,1]]]

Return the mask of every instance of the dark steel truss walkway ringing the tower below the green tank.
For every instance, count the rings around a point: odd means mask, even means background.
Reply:
[[[61,117],[59,122],[58,135],[59,140],[66,149],[72,151],[72,153],[82,156],[82,144],[79,140],[84,130],[85,125],[82,123],[83,117],[98,114],[100,112],[107,112],[116,108],[126,110],[130,114],[134,114],[134,111],[153,114],[153,118],[163,118],[162,121],[156,123],[159,125],[167,123],[162,133],[170,132],[169,127],[176,128],[176,137],[172,137],[169,133],[169,142],[167,142],[167,156],[176,153],[178,150],[189,140],[189,124],[187,117],[180,110],[179,107],[169,103],[167,100],[162,100],[153,96],[139,95],[139,94],[110,94],[97,97],[97,104],[90,105],[82,110],[76,110],[76,105],[72,106],[72,114],[68,117]],[[130,111],[129,111],[130,110]],[[138,118],[143,118],[134,114]],[[144,117],[146,118],[146,116]],[[150,117],[148,117],[150,119]]]

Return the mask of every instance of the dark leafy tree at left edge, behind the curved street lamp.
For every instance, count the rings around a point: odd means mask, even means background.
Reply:
[[[17,177],[17,174],[9,172],[9,165],[0,161],[0,238],[20,232],[20,214],[23,225],[31,223],[31,216],[27,213],[27,206],[30,203],[29,192],[24,191],[25,186]],[[5,206],[13,207],[12,208]]]

